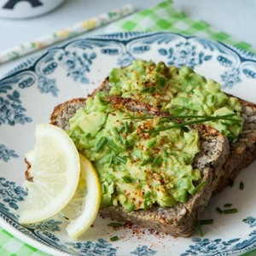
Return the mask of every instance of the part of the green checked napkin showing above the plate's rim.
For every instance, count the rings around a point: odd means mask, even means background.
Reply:
[[[172,6],[172,0],[159,3],[153,8],[143,9],[135,15],[130,15],[106,27],[105,32],[146,31],[146,32],[177,32],[189,35],[212,38],[235,45],[256,53],[251,44],[220,32],[205,21],[191,20],[182,12],[177,12]]]

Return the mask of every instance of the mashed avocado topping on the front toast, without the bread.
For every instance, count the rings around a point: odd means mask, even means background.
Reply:
[[[96,167],[102,207],[121,205],[131,212],[186,202],[201,183],[201,172],[192,166],[200,151],[198,131],[175,128],[145,133],[174,123],[160,117],[137,119],[145,114],[113,107],[103,96],[88,98],[67,130]]]

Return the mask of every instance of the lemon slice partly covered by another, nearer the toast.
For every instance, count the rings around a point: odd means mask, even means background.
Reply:
[[[69,219],[66,230],[72,239],[78,238],[93,224],[101,203],[101,183],[95,168],[80,154],[79,186],[62,213]]]

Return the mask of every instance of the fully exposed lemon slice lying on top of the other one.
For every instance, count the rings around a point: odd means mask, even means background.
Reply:
[[[79,183],[79,152],[67,133],[55,125],[36,127],[36,143],[27,161],[24,183],[28,195],[20,205],[21,224],[44,221],[61,212]]]

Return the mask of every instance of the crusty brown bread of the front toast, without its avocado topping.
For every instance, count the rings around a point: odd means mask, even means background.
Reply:
[[[121,106],[132,112],[143,112],[147,115],[165,115],[158,108],[140,103],[129,98],[108,96],[107,100],[114,106]],[[85,99],[73,99],[55,107],[51,115],[51,124],[66,130],[68,120],[76,110],[84,107]],[[201,171],[201,181],[206,184],[190,196],[186,203],[178,203],[175,207],[152,207],[146,210],[127,212],[123,207],[104,207],[100,212],[119,221],[140,224],[149,229],[159,230],[172,236],[190,236],[208,201],[212,191],[216,189],[222,166],[229,154],[227,139],[207,125],[193,126],[199,132],[201,152],[195,156],[194,166]]]

